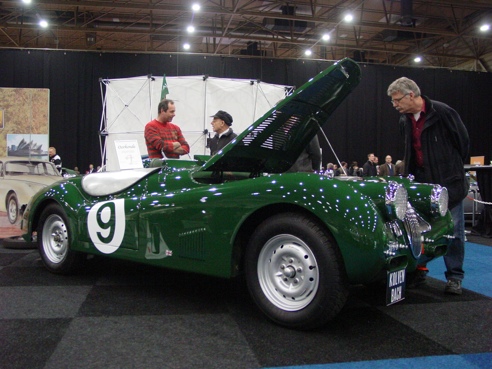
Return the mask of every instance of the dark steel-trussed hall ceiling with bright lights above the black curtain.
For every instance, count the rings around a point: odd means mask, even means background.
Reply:
[[[25,1],[0,2],[0,48],[350,57],[492,71],[492,0]]]

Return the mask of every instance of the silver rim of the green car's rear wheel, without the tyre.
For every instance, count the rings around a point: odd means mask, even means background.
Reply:
[[[44,253],[52,263],[60,263],[68,251],[68,232],[65,222],[56,214],[48,216],[41,238]]]

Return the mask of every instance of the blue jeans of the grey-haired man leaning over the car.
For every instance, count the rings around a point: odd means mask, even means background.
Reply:
[[[453,217],[454,236],[456,237],[448,247],[448,252],[444,255],[444,263],[447,271],[444,272],[446,279],[454,278],[463,280],[463,259],[464,259],[464,214],[463,202],[461,201],[450,210]]]

